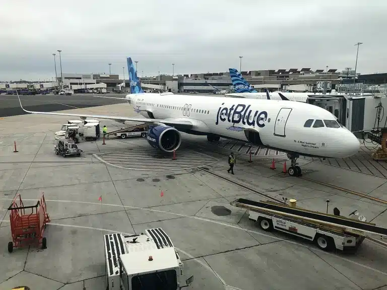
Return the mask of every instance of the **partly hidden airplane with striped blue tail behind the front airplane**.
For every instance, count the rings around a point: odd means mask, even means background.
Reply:
[[[321,95],[321,93],[282,93],[276,91],[273,93],[259,93],[242,77],[235,68],[229,68],[232,85],[236,93],[226,94],[225,96],[237,98],[267,99],[268,94],[271,100],[287,100],[306,103],[309,96]],[[268,90],[267,90],[268,91]]]

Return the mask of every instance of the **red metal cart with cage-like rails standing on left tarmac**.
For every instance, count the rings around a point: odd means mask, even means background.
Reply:
[[[26,209],[31,209],[31,213],[26,213]],[[8,210],[11,211],[10,223],[13,240],[8,243],[8,251],[11,253],[14,247],[20,247],[24,242],[42,244],[42,248],[45,249],[47,241],[43,233],[50,218],[46,212],[44,193],[36,205],[32,206],[24,206],[22,197],[17,194]]]

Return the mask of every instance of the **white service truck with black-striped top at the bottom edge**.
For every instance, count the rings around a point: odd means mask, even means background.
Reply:
[[[104,243],[107,290],[179,290],[192,282],[190,276],[184,283],[183,263],[161,228],[107,234]]]

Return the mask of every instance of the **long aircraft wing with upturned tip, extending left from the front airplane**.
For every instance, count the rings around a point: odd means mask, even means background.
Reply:
[[[30,113],[30,114],[40,114],[40,115],[53,115],[53,116],[72,116],[72,117],[80,117],[81,119],[86,118],[94,118],[94,119],[109,119],[114,120],[117,122],[125,122],[125,121],[131,121],[131,122],[143,122],[147,124],[165,124],[175,127],[184,127],[184,128],[191,128],[193,126],[192,122],[190,121],[178,121],[178,120],[165,120],[165,119],[147,119],[147,118],[133,118],[133,117],[121,117],[121,116],[107,116],[107,115],[88,115],[88,114],[72,114],[72,113],[54,113],[54,112],[34,112],[34,111],[28,111],[23,108],[22,102],[20,101],[20,97],[18,94],[20,107],[23,109],[24,112]]]

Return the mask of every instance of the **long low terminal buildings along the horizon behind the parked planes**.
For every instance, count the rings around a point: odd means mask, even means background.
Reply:
[[[316,69],[308,67],[301,69],[267,69],[241,71],[243,78],[251,84],[257,92],[269,90],[283,92],[315,92],[317,83],[329,82],[331,89],[338,91],[343,85],[354,83],[387,84],[387,74],[360,75],[354,70]],[[122,80],[115,74],[62,74],[63,82],[58,76],[57,81],[65,88],[89,89],[106,88],[107,92],[130,92],[129,80]],[[144,91],[167,91],[183,93],[231,93],[234,92],[230,73],[205,73],[190,75],[159,75],[139,78]],[[355,81],[355,82],[354,82]],[[18,87],[23,84],[18,84]],[[73,87],[74,86],[74,87]],[[8,89],[0,84],[0,89]],[[27,84],[25,84],[27,88]],[[348,87],[348,86],[346,86]]]

